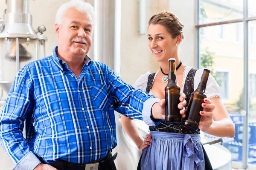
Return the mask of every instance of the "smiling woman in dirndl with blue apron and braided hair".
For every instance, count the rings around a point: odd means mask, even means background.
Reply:
[[[191,68],[178,57],[178,45],[183,40],[183,24],[174,14],[163,11],[151,17],[148,22],[148,46],[160,69],[151,74],[141,75],[135,82],[135,88],[164,99],[165,82],[163,77],[169,70],[169,58],[176,59],[177,83],[186,94],[187,104],[190,94],[198,87],[203,69]],[[121,123],[140,151],[142,170],[204,170],[204,151],[200,142],[200,130],[219,137],[233,137],[235,127],[220,99],[220,88],[209,75],[206,88],[207,99],[202,104],[199,130],[182,128],[181,124],[166,125],[160,122],[149,127],[150,135],[145,141],[140,138],[132,119],[122,116]],[[213,119],[213,120],[212,120]],[[149,145],[149,147],[148,147]]]

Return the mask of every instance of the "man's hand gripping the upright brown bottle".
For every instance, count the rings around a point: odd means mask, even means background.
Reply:
[[[186,105],[186,95],[181,93],[180,94],[180,103],[178,104],[178,108],[180,109],[181,117],[185,117],[185,111],[184,108]],[[155,103],[152,106],[152,118],[153,119],[165,119],[165,99],[161,99],[160,102]]]

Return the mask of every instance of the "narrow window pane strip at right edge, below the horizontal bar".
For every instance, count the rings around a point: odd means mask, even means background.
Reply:
[[[249,34],[249,154],[248,163],[256,166],[256,21],[248,23]]]

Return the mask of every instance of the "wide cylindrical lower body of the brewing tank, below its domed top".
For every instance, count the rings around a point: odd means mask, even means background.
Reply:
[[[9,92],[17,72],[45,56],[45,38],[40,35],[0,34],[0,86]],[[18,57],[17,57],[18,56]]]

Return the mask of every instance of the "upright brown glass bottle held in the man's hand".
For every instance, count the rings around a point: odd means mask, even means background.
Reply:
[[[170,58],[169,60],[169,80],[165,88],[165,99],[166,99],[166,117],[165,122],[168,124],[181,123],[180,109],[178,104],[180,103],[180,86],[176,80],[176,65],[175,59]]]

